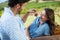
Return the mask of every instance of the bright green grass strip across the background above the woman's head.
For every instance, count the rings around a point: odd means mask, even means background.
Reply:
[[[44,3],[28,3],[27,4],[27,6],[26,6],[26,8],[27,9],[30,9],[30,8],[37,8],[37,9],[39,9],[39,8],[43,8],[43,7],[50,7],[50,6],[52,6],[52,7],[59,7],[60,6],[60,1],[58,2],[58,1],[56,1],[56,2],[44,2]]]

